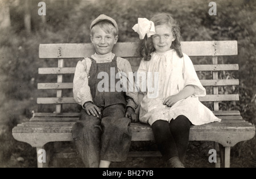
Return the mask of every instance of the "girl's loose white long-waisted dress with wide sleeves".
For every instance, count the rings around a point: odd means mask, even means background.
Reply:
[[[163,53],[153,52],[150,61],[142,59],[138,74],[151,74],[152,78],[139,78],[139,87],[146,84],[146,93],[141,102],[139,119],[141,122],[152,125],[157,120],[170,122],[177,116],[184,115],[193,125],[220,122],[220,118],[214,116],[212,111],[199,101],[199,96],[205,96],[205,88],[193,67],[191,59],[183,54],[183,58],[177,56],[175,50]],[[159,78],[155,79],[154,74]],[[150,76],[150,75],[149,75]],[[146,80],[146,81],[145,81]],[[156,84],[154,84],[156,83]],[[163,101],[172,95],[176,95],[187,85],[196,88],[195,94],[187,99],[177,101],[173,106],[163,105]],[[155,89],[155,90],[152,90]]]

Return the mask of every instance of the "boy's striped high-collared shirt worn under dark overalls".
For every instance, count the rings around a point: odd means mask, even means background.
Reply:
[[[98,55],[93,54],[91,57],[97,62],[97,63],[106,63],[106,62],[112,62],[112,59],[114,58],[115,54],[112,52],[104,55]],[[86,102],[92,102],[92,95],[90,93],[90,87],[88,85],[88,74],[90,71],[90,66],[92,65],[92,61],[90,58],[84,58],[82,61],[77,62],[76,65],[76,71],[75,76],[73,79],[73,96],[76,101],[76,103],[80,104],[82,108],[84,108],[84,104]],[[132,72],[131,65],[127,59],[117,57],[117,69],[118,73],[124,73],[129,74]],[[122,74],[121,74],[122,75]],[[125,92],[126,93],[126,102],[127,106],[130,106],[131,108],[135,109],[138,106],[138,92],[135,92],[135,86],[133,85],[134,82],[130,82],[129,78],[126,78],[126,80],[123,80],[123,76],[120,76],[120,81],[122,84],[122,81],[127,82],[127,87],[133,86],[133,90]],[[130,85],[130,86],[129,86]]]

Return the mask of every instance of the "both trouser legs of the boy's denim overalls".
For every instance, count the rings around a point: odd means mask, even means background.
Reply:
[[[100,117],[81,111],[73,127],[73,139],[85,167],[99,167],[100,160],[124,161],[131,143],[130,118],[121,104],[104,108]]]

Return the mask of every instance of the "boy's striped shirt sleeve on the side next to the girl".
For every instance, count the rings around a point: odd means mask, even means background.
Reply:
[[[131,69],[131,65],[127,59],[118,57],[118,69],[121,74],[121,82],[123,83],[123,90],[126,94],[126,108],[131,107],[134,110],[138,106],[138,91],[135,87],[135,82],[133,78],[133,70]],[[126,84],[124,84],[126,83]]]

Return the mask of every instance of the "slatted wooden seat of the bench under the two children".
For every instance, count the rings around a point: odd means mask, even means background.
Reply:
[[[238,111],[232,111],[232,116],[228,111],[218,111],[214,114],[222,121],[191,126],[189,140],[208,140],[220,143],[224,147],[233,147],[238,142],[254,137],[255,126],[243,120]],[[16,139],[31,144],[32,147],[42,147],[48,142],[72,141],[72,127],[77,120],[79,113],[36,113],[30,122],[20,123],[14,127],[13,135]],[[133,141],[154,140],[148,124],[131,123],[130,130]]]

